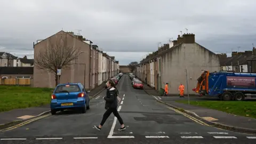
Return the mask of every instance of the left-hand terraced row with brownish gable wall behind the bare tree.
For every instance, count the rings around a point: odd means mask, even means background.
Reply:
[[[61,70],[60,83],[82,83],[87,90],[91,90],[118,73],[118,62],[111,59],[107,53],[99,51],[98,46],[93,45],[92,41],[83,36],[74,35],[73,32],[61,30],[48,38],[38,40],[34,45],[34,55],[49,46],[50,39],[54,42],[54,38],[58,36],[65,36],[68,46],[81,47],[78,58],[70,68]],[[116,67],[109,67],[109,65]],[[35,66],[34,87],[55,87],[54,74]]]

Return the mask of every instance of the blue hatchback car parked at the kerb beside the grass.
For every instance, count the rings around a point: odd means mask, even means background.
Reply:
[[[90,91],[86,91],[81,83],[57,85],[52,94],[52,115],[55,115],[57,111],[65,109],[81,109],[82,113],[86,113],[86,109],[90,109],[88,93]]]

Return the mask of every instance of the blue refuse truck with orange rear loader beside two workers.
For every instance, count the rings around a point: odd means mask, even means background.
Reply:
[[[193,89],[200,95],[218,97],[221,100],[242,101],[247,98],[256,99],[256,74],[235,73],[234,71],[202,70],[197,79],[196,88]]]

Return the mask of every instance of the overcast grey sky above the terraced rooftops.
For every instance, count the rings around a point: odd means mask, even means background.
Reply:
[[[0,1],[0,51],[33,58],[33,42],[62,28],[78,32],[116,57],[140,61],[157,43],[186,32],[215,52],[256,45],[256,1],[91,0]],[[129,53],[127,53],[129,52]]]

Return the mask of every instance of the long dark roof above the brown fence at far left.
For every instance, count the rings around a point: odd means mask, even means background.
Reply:
[[[33,75],[34,67],[0,67],[0,75]]]

